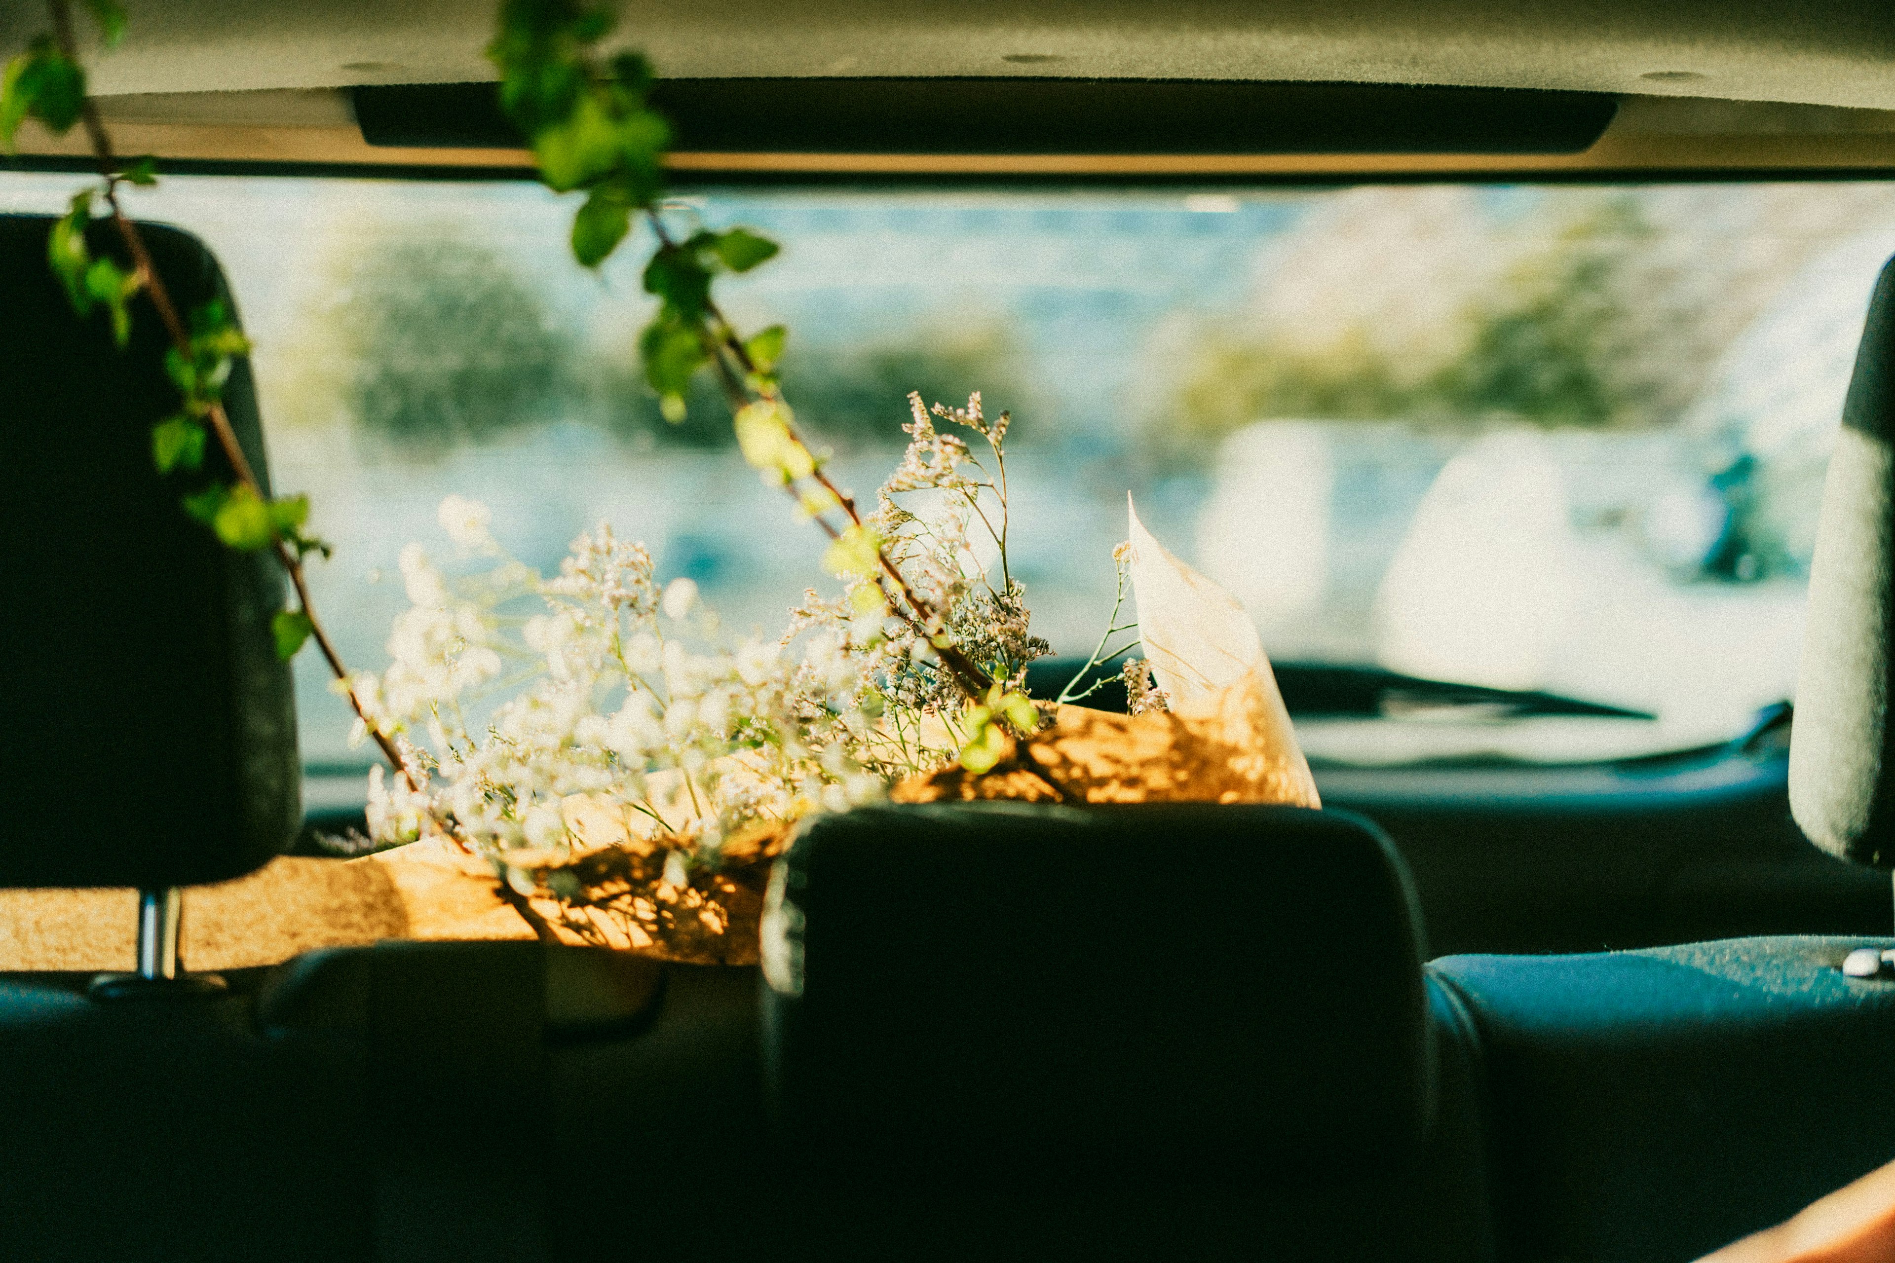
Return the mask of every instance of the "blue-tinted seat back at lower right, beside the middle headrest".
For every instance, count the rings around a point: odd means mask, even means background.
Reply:
[[[1895,939],[1448,956],[1472,1015],[1505,1259],[1685,1263],[1895,1159]]]

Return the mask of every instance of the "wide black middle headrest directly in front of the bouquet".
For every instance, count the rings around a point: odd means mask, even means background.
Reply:
[[[1429,1036],[1406,871],[1294,807],[813,820],[764,922],[796,1151],[1133,1178],[1400,1157]]]

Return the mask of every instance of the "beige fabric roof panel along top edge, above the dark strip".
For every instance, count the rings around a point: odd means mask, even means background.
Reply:
[[[495,0],[133,0],[95,89],[491,78]],[[0,9],[0,53],[44,25]],[[1895,108],[1887,0],[637,0],[661,74],[1328,80]]]

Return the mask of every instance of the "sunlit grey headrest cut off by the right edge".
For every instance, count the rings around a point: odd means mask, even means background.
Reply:
[[[1895,263],[1882,269],[1829,458],[1789,746],[1789,801],[1823,850],[1895,867]]]

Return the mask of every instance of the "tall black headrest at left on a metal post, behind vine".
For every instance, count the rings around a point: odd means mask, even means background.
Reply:
[[[222,547],[152,466],[152,426],[178,411],[165,331],[142,297],[125,350],[102,311],[80,320],[47,267],[51,225],[0,216],[0,886],[224,881],[301,814],[269,632],[282,578]],[[144,235],[182,311],[227,299],[197,239]],[[108,225],[91,242],[125,261]],[[224,398],[265,477],[241,362]]]

